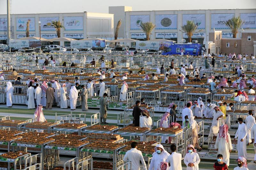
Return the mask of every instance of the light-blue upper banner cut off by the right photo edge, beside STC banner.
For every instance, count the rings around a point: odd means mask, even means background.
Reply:
[[[242,28],[256,29],[256,13],[241,13],[240,18],[244,20]]]

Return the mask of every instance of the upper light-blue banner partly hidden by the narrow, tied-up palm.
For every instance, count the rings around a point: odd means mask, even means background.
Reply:
[[[35,18],[16,18],[16,31],[26,31],[28,21],[29,31],[35,31]]]

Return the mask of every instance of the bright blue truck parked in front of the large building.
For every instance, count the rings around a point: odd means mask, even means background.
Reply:
[[[181,51],[183,51],[184,55],[202,55],[202,47],[201,44],[198,43],[172,43],[168,47],[165,46],[163,48],[164,49],[161,49],[160,46],[160,50],[164,50],[164,52],[162,52],[162,55],[180,55]]]

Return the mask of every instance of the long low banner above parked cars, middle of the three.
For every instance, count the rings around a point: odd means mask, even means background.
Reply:
[[[105,40],[96,41],[85,41],[85,40],[74,40],[70,42],[71,48],[104,48]]]

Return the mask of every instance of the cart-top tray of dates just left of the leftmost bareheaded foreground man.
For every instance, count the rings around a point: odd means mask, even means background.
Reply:
[[[82,148],[83,152],[113,153],[114,150],[125,146],[124,143],[92,142]]]

